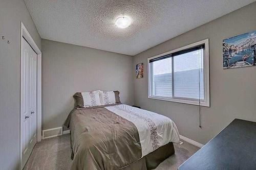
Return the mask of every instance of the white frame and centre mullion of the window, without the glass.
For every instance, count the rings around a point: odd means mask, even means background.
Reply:
[[[187,50],[188,48],[193,48],[199,45],[203,45],[204,44],[204,62],[203,62],[203,75],[204,75],[204,100],[193,100],[193,99],[189,99],[189,98],[180,98],[180,97],[176,97],[176,98],[165,98],[165,97],[161,97],[161,96],[154,96],[152,95],[152,88],[151,88],[151,82],[153,80],[153,74],[151,74],[151,70],[152,70],[152,64],[150,63],[150,60],[155,59],[155,58],[159,58],[165,55],[169,55],[172,53],[176,53],[182,50]],[[173,63],[173,60],[172,60]],[[173,67],[173,64],[172,64]],[[172,68],[174,69],[174,68]],[[174,71],[174,70],[173,70]],[[173,73],[174,74],[174,73]],[[169,102],[177,102],[177,103],[184,103],[184,104],[190,104],[190,105],[200,105],[200,106],[205,106],[205,107],[210,107],[210,87],[209,87],[209,39],[205,39],[199,42],[195,42],[180,48],[177,48],[175,50],[163,53],[163,54],[159,54],[157,56],[151,57],[147,59],[147,75],[148,75],[148,81],[147,81],[147,98],[148,99],[156,99],[156,100],[162,100],[162,101],[169,101]],[[174,77],[172,76],[172,79],[174,80]],[[174,83],[174,81],[172,81],[172,83]],[[174,87],[174,86],[173,86]],[[174,91],[174,89],[173,89]]]

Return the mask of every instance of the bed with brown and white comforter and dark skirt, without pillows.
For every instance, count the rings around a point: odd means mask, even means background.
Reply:
[[[180,141],[171,119],[120,103],[76,107],[65,126],[71,131],[72,170],[153,169]]]

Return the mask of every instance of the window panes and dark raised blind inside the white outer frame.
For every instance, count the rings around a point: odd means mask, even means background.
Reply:
[[[204,100],[204,44],[150,60],[154,96]]]

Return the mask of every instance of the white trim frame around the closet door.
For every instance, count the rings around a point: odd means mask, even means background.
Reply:
[[[19,159],[19,169],[22,169],[22,113],[21,113],[21,59],[22,59],[22,39],[23,37],[27,40],[29,45],[33,48],[35,53],[37,54],[37,104],[36,104],[36,109],[37,109],[37,142],[41,141],[41,62],[42,62],[42,53],[38,46],[36,45],[35,41],[29,34],[28,30],[20,21],[20,58],[19,58],[19,147],[20,147],[20,159]]]

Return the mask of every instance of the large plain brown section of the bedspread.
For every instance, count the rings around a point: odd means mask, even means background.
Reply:
[[[71,169],[118,169],[141,158],[135,125],[101,107],[70,115],[74,159]]]

